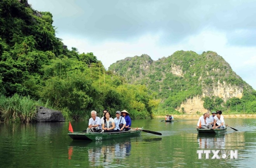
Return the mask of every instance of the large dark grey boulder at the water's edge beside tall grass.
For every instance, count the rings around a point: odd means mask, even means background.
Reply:
[[[37,112],[37,122],[64,122],[65,118],[62,113],[57,110],[39,107]]]

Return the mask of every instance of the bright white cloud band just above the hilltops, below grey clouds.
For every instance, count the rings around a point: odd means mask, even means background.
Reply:
[[[248,76],[248,71],[256,72],[256,48],[255,47],[233,47],[227,45],[227,38],[224,32],[216,30],[204,30],[198,35],[189,36],[183,42],[175,45],[159,45],[162,33],[155,35],[140,36],[132,41],[104,41],[94,44],[85,38],[73,38],[63,36],[64,44],[69,48],[76,47],[79,52],[93,52],[102,61],[105,68],[126,57],[148,54],[153,60],[167,57],[177,50],[192,50],[199,54],[202,51],[215,51],[222,56],[232,67],[232,69],[242,77],[249,85],[256,88],[255,73]],[[241,70],[242,69],[242,70]],[[246,71],[248,70],[248,71]]]

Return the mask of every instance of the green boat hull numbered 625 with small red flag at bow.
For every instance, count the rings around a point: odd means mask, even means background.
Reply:
[[[73,140],[102,141],[107,139],[120,139],[132,136],[139,136],[143,128],[123,132],[73,132],[68,133]]]

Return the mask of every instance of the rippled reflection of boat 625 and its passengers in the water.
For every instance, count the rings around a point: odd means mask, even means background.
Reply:
[[[118,166],[127,157],[130,157],[132,149],[136,152],[138,143],[148,144],[161,141],[162,138],[130,138],[127,140],[114,139],[109,141],[72,141],[68,147],[68,159],[76,160],[79,157],[88,159],[91,167],[113,167]],[[134,148],[132,148],[132,144]],[[84,156],[81,154],[84,153]],[[86,154],[87,153],[87,154]]]

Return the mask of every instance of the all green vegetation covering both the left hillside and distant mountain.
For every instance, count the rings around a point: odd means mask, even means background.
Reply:
[[[176,51],[157,61],[143,54],[107,71],[93,53],[69,50],[52,23],[52,14],[23,0],[0,2],[1,121],[34,121],[38,106],[60,110],[66,120],[87,120],[91,110],[103,109],[112,115],[126,109],[133,119],[183,114],[175,109],[202,95],[209,110],[256,112],[256,91],[213,51]],[[223,85],[240,89],[242,98],[213,96]]]

